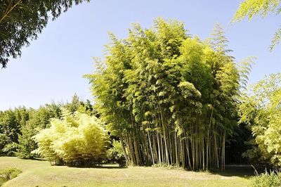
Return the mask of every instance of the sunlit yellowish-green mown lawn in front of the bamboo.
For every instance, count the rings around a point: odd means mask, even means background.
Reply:
[[[0,157],[0,169],[17,167],[22,173],[3,186],[249,186],[249,177],[226,171],[187,172],[162,167],[115,165],[100,168],[51,166],[49,162]],[[237,172],[237,171],[236,171]]]

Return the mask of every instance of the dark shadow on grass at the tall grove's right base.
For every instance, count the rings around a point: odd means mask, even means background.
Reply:
[[[254,168],[251,165],[226,165],[225,171],[212,169],[210,172],[221,176],[239,176],[242,178],[254,176]]]

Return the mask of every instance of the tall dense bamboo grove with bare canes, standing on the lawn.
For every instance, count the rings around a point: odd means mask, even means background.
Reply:
[[[105,60],[85,77],[126,162],[224,169],[240,75],[219,25],[206,41],[161,18],[151,29],[133,25],[126,39],[110,37]]]

